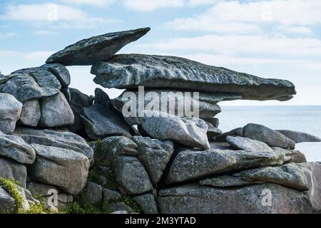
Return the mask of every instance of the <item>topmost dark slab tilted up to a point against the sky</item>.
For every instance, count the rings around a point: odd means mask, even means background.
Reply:
[[[61,63],[64,66],[89,66],[108,61],[123,46],[137,41],[150,30],[151,28],[138,28],[86,38],[54,53],[46,63]]]

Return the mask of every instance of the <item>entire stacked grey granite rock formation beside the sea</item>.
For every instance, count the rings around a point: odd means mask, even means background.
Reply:
[[[149,30],[88,38],[44,66],[1,76],[0,177],[42,197],[54,189],[61,204],[82,191],[86,202],[102,201],[118,213],[133,212],[122,195],[143,213],[320,212],[321,165],[295,150],[295,143],[319,138],[256,124],[222,133],[215,118],[221,101],[290,100],[295,86],[185,58],[116,55]],[[146,100],[143,110],[138,100],[134,105],[142,116],[125,116],[123,95],[111,100],[99,88],[94,97],[68,88],[65,66],[79,65],[92,65],[97,84],[123,94],[139,97],[143,86],[146,93],[185,100],[186,92],[199,92],[190,100],[199,118],[178,115],[178,103],[173,112],[148,110]],[[88,178],[90,168],[99,178]],[[116,186],[108,185],[109,175]],[[14,207],[0,191],[0,211]]]

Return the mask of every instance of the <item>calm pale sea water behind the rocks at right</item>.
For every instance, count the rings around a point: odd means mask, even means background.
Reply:
[[[220,129],[223,132],[258,123],[277,130],[297,130],[321,138],[321,106],[222,106]],[[297,144],[307,160],[321,161],[321,142]]]

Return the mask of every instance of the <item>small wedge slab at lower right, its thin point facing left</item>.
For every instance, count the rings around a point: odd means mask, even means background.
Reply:
[[[290,163],[280,167],[264,167],[236,173],[237,177],[248,177],[252,180],[275,183],[299,191],[309,190],[312,172],[307,165]]]

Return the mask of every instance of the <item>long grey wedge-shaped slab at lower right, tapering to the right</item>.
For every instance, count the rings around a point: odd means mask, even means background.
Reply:
[[[173,184],[187,180],[199,180],[209,175],[225,172],[282,165],[290,160],[291,155],[291,152],[276,151],[185,150],[175,157],[165,177],[165,182]]]

